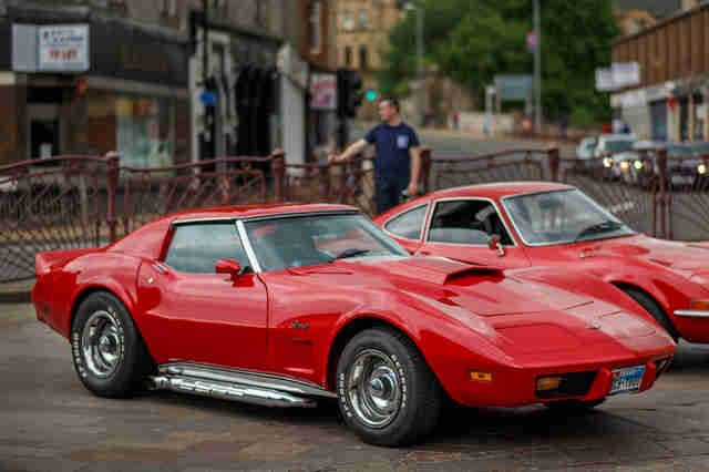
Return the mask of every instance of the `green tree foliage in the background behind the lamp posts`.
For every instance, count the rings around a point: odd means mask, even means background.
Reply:
[[[540,0],[542,9],[542,101],[547,117],[577,110],[609,117],[608,95],[595,90],[595,69],[610,63],[618,29],[612,0]],[[436,64],[482,96],[495,74],[532,73],[526,50],[532,0],[419,0],[424,11],[425,62]],[[390,35],[380,88],[391,93],[415,76],[415,11]]]

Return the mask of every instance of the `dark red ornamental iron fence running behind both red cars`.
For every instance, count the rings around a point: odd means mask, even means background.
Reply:
[[[424,148],[419,186],[428,193],[489,182],[563,182],[636,230],[672,239],[709,239],[707,157],[668,163],[666,150],[656,148],[629,161],[608,156],[582,161],[561,158],[554,147],[436,157]],[[685,165],[690,158],[691,165]],[[373,216],[373,160],[286,164],[277,150],[266,157],[224,157],[164,168],[121,167],[115,154],[1,166],[0,283],[32,277],[34,256],[42,250],[105,245],[183,209],[320,202],[354,205]]]

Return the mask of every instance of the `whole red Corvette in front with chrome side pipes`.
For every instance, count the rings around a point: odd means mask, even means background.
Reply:
[[[42,253],[37,275],[37,316],[95,394],[338,399],[376,444],[423,438],[449,398],[594,407],[650,388],[675,352],[607,284],[412,257],[347,206],[181,213],[105,248]]]

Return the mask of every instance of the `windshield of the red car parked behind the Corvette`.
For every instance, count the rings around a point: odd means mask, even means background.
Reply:
[[[567,244],[634,234],[577,189],[505,197],[502,204],[527,245]]]

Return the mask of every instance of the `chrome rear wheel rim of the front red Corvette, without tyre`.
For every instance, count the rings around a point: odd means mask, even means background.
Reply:
[[[119,324],[109,311],[99,310],[89,317],[81,337],[81,353],[86,369],[95,377],[113,374],[123,356]]]

